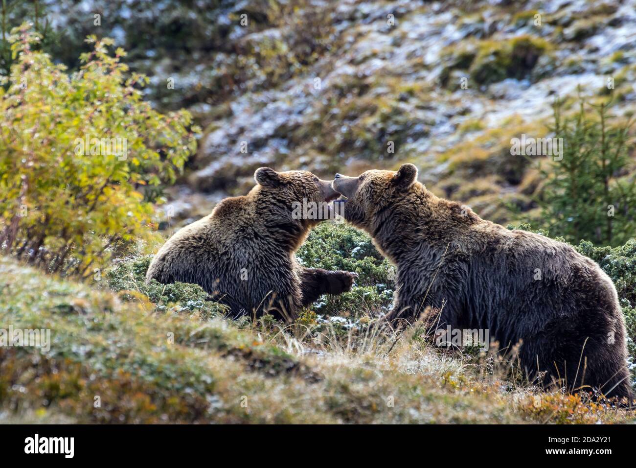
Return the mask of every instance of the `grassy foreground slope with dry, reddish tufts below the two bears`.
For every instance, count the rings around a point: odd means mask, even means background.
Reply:
[[[139,292],[59,280],[7,258],[0,259],[0,296],[0,327],[46,327],[52,335],[48,353],[0,348],[4,422],[625,419],[578,397],[504,383],[497,378],[504,364],[441,353],[415,330],[394,344],[394,334],[373,326],[323,325],[308,334],[300,325],[240,325],[205,308],[157,307]]]

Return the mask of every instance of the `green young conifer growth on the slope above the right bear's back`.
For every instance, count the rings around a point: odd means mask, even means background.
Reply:
[[[636,228],[636,178],[630,129],[611,115],[612,101],[591,106],[579,97],[578,110],[564,115],[557,99],[549,129],[563,142],[560,158],[541,162],[545,180],[541,218],[553,234],[570,243],[621,245]]]

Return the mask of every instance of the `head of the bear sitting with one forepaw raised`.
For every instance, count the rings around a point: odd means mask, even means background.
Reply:
[[[331,180],[322,180],[309,171],[276,172],[270,167],[256,169],[254,180],[259,185],[259,197],[282,207],[305,226],[333,218],[329,202],[340,194]]]

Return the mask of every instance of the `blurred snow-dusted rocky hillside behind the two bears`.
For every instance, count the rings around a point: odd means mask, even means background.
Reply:
[[[612,96],[618,115],[636,97],[633,0],[41,4],[56,59],[73,69],[87,34],[111,36],[158,108],[202,124],[165,207],[177,218],[245,193],[259,166],[329,177],[408,161],[481,216],[532,219],[549,161],[511,155],[510,139],[549,135],[555,97]],[[37,21],[20,8],[13,22]]]

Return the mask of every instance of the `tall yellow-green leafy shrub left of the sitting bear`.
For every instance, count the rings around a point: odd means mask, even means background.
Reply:
[[[16,62],[0,89],[0,246],[49,271],[88,276],[114,250],[152,236],[153,196],[195,149],[191,117],[162,115],[128,75],[111,39],[64,73],[34,50],[27,25],[13,36]],[[88,139],[88,146],[85,145]],[[148,194],[156,194],[156,190]]]

